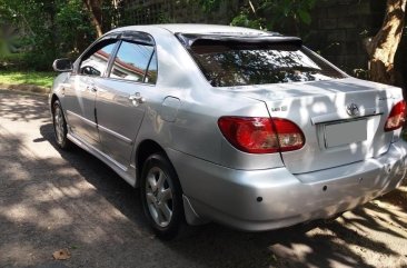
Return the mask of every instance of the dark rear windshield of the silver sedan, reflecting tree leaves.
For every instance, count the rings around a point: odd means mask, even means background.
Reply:
[[[204,42],[189,50],[214,87],[344,78],[322,59],[296,44]]]

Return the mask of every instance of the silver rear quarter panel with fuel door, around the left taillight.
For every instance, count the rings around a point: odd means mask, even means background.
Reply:
[[[146,116],[136,146],[153,139],[163,148],[234,168],[281,167],[279,153],[240,153],[225,140],[217,126],[221,116],[268,117],[266,105],[228,90],[212,89],[172,33],[161,29],[151,36],[157,43],[158,80],[151,90],[153,95],[146,98]],[[162,103],[168,97],[179,100],[173,120],[167,120],[168,115],[163,115],[168,108]]]

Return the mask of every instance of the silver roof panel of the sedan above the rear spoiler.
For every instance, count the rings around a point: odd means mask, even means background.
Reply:
[[[175,23],[175,24],[150,24],[150,26],[128,26],[117,28],[113,31],[148,31],[165,29],[171,33],[198,33],[198,34],[219,34],[219,36],[279,36],[275,32],[266,32],[256,29],[220,26],[220,24],[195,24],[195,23]]]

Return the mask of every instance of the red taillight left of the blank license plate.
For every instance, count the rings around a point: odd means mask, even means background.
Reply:
[[[287,119],[221,117],[218,126],[231,145],[250,153],[292,151],[305,143],[302,131]]]

